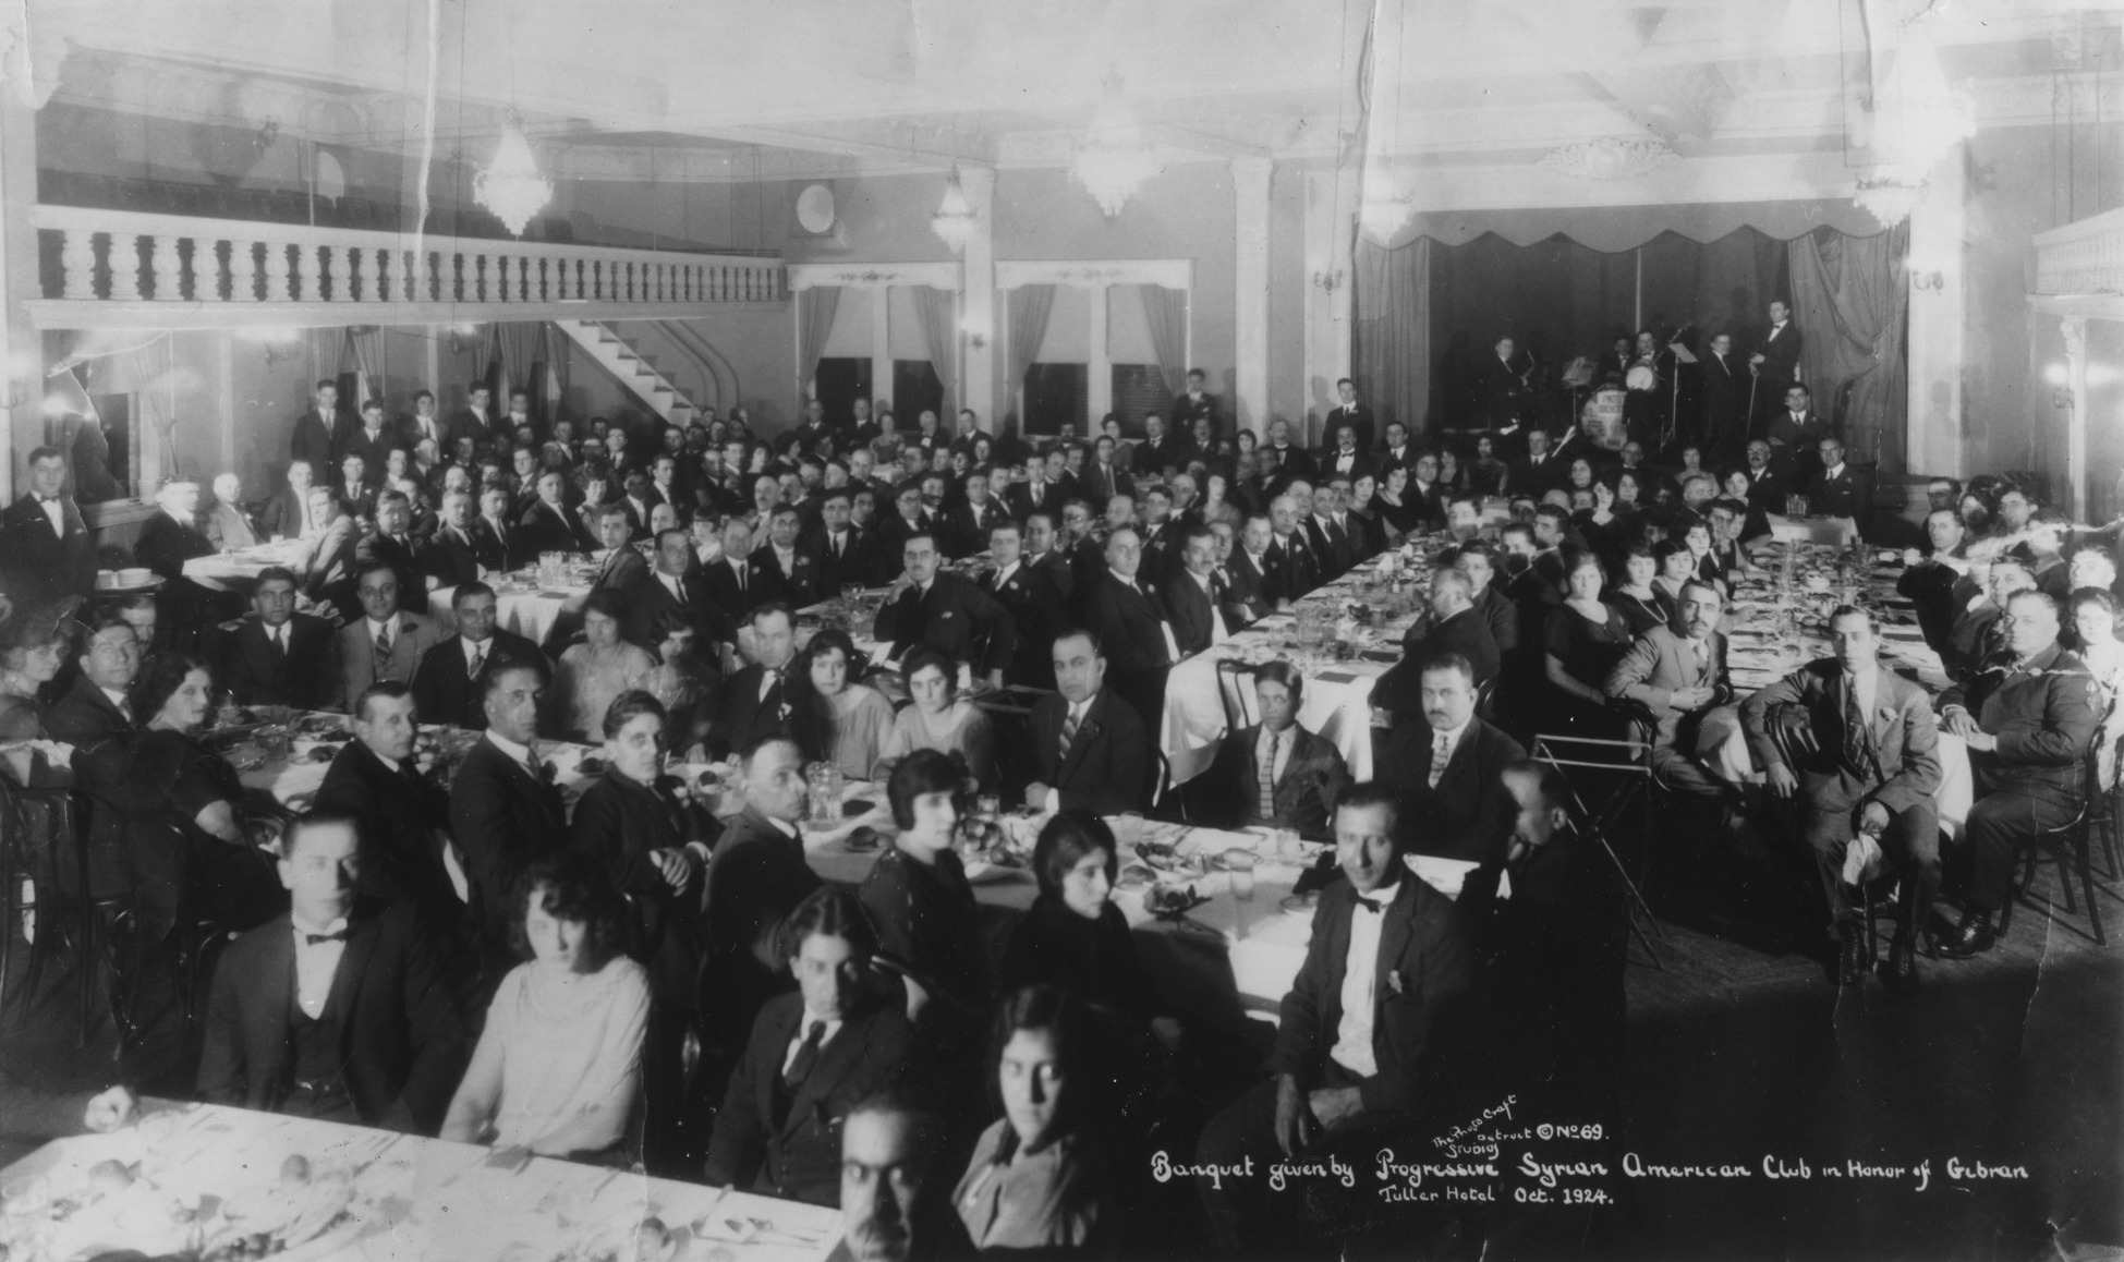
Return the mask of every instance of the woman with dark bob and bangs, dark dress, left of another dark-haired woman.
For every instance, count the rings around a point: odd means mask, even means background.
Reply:
[[[901,758],[886,782],[901,833],[862,882],[879,960],[907,977],[915,1013],[928,999],[979,1013],[994,992],[973,886],[952,850],[962,792],[964,771],[937,750]]]

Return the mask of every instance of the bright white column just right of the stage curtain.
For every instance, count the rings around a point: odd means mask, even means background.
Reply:
[[[1909,474],[1960,478],[1963,353],[1969,329],[1963,234],[1969,200],[1963,147],[1956,144],[1924,181],[1909,212],[1909,391],[1903,450]]]

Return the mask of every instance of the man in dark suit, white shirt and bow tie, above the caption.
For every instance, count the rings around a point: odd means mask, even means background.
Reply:
[[[1321,890],[1313,911],[1306,962],[1277,1022],[1274,1079],[1202,1128],[1198,1162],[1260,1171],[1285,1156],[1372,1158],[1395,1139],[1412,1145],[1419,1118],[1453,1115],[1476,954],[1453,901],[1402,863],[1404,833],[1385,784],[1359,784],[1336,805],[1336,858],[1349,880]],[[1370,1011],[1347,1011],[1349,994],[1370,996]],[[1279,1232],[1298,1217],[1270,1211],[1268,1179],[1196,1186],[1211,1245],[1228,1256],[1279,1251]]]

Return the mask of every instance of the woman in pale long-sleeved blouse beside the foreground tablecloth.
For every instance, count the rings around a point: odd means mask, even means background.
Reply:
[[[650,984],[620,937],[620,897],[597,858],[563,850],[525,869],[510,943],[527,960],[486,1009],[442,1139],[629,1160]]]

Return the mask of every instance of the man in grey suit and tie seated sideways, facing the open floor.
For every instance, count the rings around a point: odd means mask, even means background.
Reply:
[[[1939,729],[1924,688],[1880,667],[1873,614],[1839,606],[1829,644],[1833,656],[1748,697],[1740,720],[1769,792],[1799,799],[1799,835],[1837,931],[1837,984],[1856,986],[1873,965],[1844,880],[1846,852],[1865,835],[1903,882],[1884,982],[1907,990],[1918,984],[1916,935],[1939,890]]]

